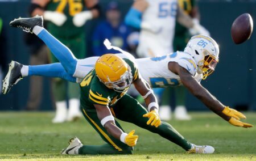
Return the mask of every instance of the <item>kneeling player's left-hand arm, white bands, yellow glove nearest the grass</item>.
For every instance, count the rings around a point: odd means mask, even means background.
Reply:
[[[138,140],[138,135],[134,135],[135,130],[130,133],[123,132],[117,125],[115,125],[114,117],[110,112],[108,106],[94,104],[96,108],[97,116],[101,120],[101,125],[116,139],[120,139],[123,143],[128,146],[135,146]]]

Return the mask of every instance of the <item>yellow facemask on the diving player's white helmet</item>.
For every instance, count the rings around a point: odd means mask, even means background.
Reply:
[[[205,50],[204,55],[204,63],[203,65],[199,66],[202,73],[203,73],[203,80],[205,80],[210,74],[213,73],[215,67],[218,63],[218,58],[214,57],[213,55],[209,54],[207,50]]]

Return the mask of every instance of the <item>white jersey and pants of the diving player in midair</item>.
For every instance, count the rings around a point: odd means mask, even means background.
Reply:
[[[191,73],[194,78],[200,82],[202,74],[197,74],[197,66],[195,60],[188,53],[175,52],[161,57],[150,57],[135,59],[131,54],[117,54],[121,58],[129,58],[138,66],[141,77],[150,84],[152,88],[163,88],[167,86],[180,86],[181,81],[179,75],[172,73],[168,69],[169,62],[177,62]],[[89,57],[83,60],[77,60],[76,71],[73,77],[77,78],[77,82],[81,82],[86,74],[95,66],[99,57]]]

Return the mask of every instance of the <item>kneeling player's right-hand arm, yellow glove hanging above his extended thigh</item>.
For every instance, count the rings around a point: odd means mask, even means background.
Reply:
[[[158,101],[156,100],[154,92],[150,89],[150,85],[140,76],[133,82],[133,84],[139,94],[142,95],[148,107],[148,113],[143,115],[143,117],[148,117],[147,125],[158,128],[158,126],[161,125],[161,120],[158,115]]]

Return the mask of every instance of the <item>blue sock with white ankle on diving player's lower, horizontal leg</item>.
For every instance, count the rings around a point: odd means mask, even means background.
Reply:
[[[72,77],[72,75],[69,75],[60,63],[50,63],[45,65],[30,65],[26,67],[27,67],[27,75],[29,76],[37,75],[37,76],[43,76],[43,77],[62,78],[69,82],[76,82],[76,78]],[[23,76],[23,73],[22,73],[22,76]]]

